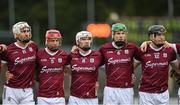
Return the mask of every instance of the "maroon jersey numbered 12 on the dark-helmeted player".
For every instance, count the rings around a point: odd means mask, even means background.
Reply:
[[[172,48],[162,47],[155,50],[147,47],[145,53],[140,53],[136,58],[141,61],[142,74],[140,91],[148,93],[161,93],[168,89],[169,63],[176,60]]]

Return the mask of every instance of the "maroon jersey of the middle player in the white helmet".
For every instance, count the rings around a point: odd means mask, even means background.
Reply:
[[[98,79],[98,69],[101,65],[101,54],[92,51],[87,56],[72,54],[69,57],[71,65],[71,95],[79,98],[95,98],[95,84]]]

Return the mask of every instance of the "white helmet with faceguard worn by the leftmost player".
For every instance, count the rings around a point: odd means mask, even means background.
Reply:
[[[28,29],[28,30],[24,30],[24,29]],[[13,34],[14,34],[14,38],[19,40],[20,42],[23,43],[28,43],[31,40],[31,27],[28,25],[27,22],[18,22],[16,24],[13,25],[12,28]],[[29,35],[28,37],[23,37],[20,34],[28,32]]]

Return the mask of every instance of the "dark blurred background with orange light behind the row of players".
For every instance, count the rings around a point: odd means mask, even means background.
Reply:
[[[110,26],[121,22],[127,26],[128,41],[138,46],[148,40],[147,29],[152,24],[167,28],[167,40],[180,42],[180,0],[0,0],[0,43],[14,41],[11,28],[19,21],[26,21],[32,28],[33,40],[44,47],[45,32],[58,29],[63,36],[62,48],[70,51],[75,35],[81,30],[94,35],[93,48],[111,41]],[[105,81],[104,68],[100,70],[99,99],[102,101]],[[135,97],[138,97],[140,68],[136,75]],[[0,94],[4,72],[0,76]],[[65,80],[66,97],[69,95],[69,79]],[[169,81],[171,97],[177,97],[173,79]]]

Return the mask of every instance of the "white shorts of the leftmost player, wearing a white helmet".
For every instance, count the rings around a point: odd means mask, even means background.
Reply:
[[[35,105],[32,88],[11,88],[4,86],[2,105]]]

